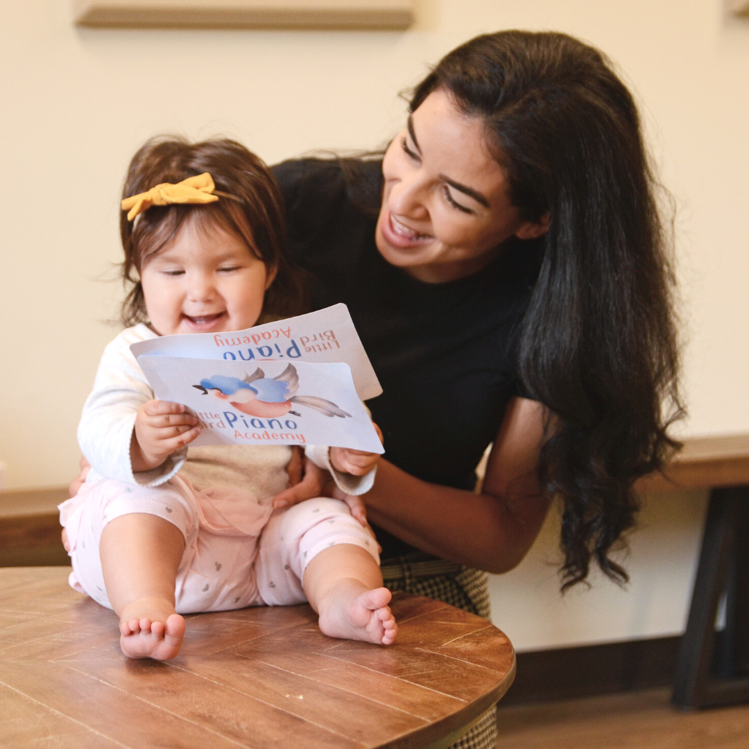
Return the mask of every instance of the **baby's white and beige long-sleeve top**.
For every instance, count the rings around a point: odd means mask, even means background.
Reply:
[[[123,330],[104,349],[94,389],[86,399],[78,426],[78,442],[91,463],[87,481],[101,478],[142,486],[163,484],[178,471],[195,488],[237,486],[251,489],[262,500],[285,488],[286,464],[291,447],[284,445],[222,445],[184,447],[173,452],[159,467],[133,473],[130,442],[136,413],[154,391],[138,365],[130,345],[157,338],[145,324]],[[364,494],[375,482],[374,470],[366,476],[339,473],[330,465],[327,446],[309,445],[305,449],[321,468],[333,474],[336,484],[347,494]],[[250,485],[248,485],[248,482]]]

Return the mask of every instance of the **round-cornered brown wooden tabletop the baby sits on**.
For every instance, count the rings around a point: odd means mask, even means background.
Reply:
[[[173,661],[129,661],[70,568],[0,569],[0,746],[443,748],[505,694],[485,619],[395,594],[398,642],[333,640],[309,606],[187,617]]]

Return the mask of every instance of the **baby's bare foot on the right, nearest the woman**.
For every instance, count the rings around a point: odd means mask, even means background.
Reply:
[[[344,583],[330,592],[320,603],[320,629],[328,637],[391,645],[398,634],[387,605],[392,595],[387,588],[363,587]]]

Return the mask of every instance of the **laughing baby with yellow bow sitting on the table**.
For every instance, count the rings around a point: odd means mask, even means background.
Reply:
[[[133,157],[121,237],[127,327],[105,349],[79,442],[91,471],[60,506],[70,584],[120,617],[131,658],[174,658],[181,613],[309,601],[321,631],[389,645],[397,627],[377,542],[346,502],[273,509],[292,448],[202,446],[184,405],[154,400],[130,345],[252,327],[295,312],[282,197],[240,144],[155,139]],[[346,495],[374,481],[377,455],[307,448]],[[353,506],[354,500],[349,500]]]

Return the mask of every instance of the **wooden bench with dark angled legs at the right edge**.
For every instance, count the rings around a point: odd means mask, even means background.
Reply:
[[[640,492],[710,490],[673,703],[698,708],[749,702],[749,434],[687,440],[663,476]],[[726,627],[715,617],[726,595]]]

